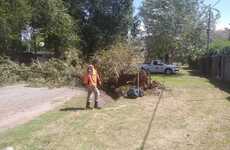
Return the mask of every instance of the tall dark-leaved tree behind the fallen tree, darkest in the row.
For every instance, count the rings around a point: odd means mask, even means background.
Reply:
[[[65,0],[78,20],[81,48],[92,54],[126,37],[132,23],[133,0]]]

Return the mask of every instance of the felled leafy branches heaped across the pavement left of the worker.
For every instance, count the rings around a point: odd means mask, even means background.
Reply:
[[[47,62],[34,61],[30,66],[17,64],[8,58],[0,58],[0,85],[13,84],[20,81],[33,86],[63,86],[80,83],[82,74],[79,53],[68,50],[63,60],[52,58]]]

